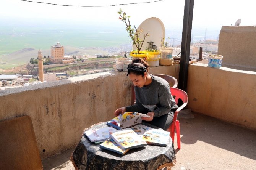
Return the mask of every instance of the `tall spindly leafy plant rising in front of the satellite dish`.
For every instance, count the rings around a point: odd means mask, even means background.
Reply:
[[[129,36],[131,37],[131,40],[133,42],[133,44],[136,46],[137,48],[137,53],[140,54],[140,50],[142,48],[142,45],[146,39],[147,36],[149,36],[148,32],[147,34],[143,35],[143,40],[140,39],[140,34],[143,31],[142,28],[140,28],[139,30],[134,26],[134,29],[131,28],[131,24],[130,24],[130,16],[126,16],[126,13],[122,11],[122,9],[120,9],[119,11],[117,11],[117,13],[120,15],[119,19],[123,22],[125,22],[126,25],[126,31],[128,32]]]

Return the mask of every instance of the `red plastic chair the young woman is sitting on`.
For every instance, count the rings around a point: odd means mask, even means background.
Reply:
[[[178,88],[171,87],[170,90],[177,104],[179,99],[183,101],[183,104],[175,111],[172,124],[168,129],[173,142],[174,142],[175,129],[176,129],[177,145],[178,145],[178,149],[180,149],[180,122],[177,120],[177,116],[179,111],[188,104],[188,95],[185,91]]]

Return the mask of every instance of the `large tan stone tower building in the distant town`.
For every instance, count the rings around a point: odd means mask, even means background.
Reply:
[[[51,46],[51,56],[49,59],[52,64],[68,64],[73,63],[75,61],[75,59],[73,59],[73,57],[71,56],[64,56],[64,47],[60,45],[59,42]]]

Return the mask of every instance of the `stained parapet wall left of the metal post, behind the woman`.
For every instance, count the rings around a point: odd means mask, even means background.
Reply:
[[[175,76],[178,68],[159,66],[150,72]],[[83,129],[110,120],[115,109],[130,103],[131,81],[126,72],[102,72],[2,90],[0,121],[31,117],[43,159],[75,146]]]

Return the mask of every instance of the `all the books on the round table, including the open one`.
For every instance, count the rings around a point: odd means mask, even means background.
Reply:
[[[122,155],[147,144],[167,146],[170,132],[142,125],[141,116],[145,114],[126,112],[107,122],[110,127],[87,130],[84,134],[91,142],[100,144],[100,148]]]

